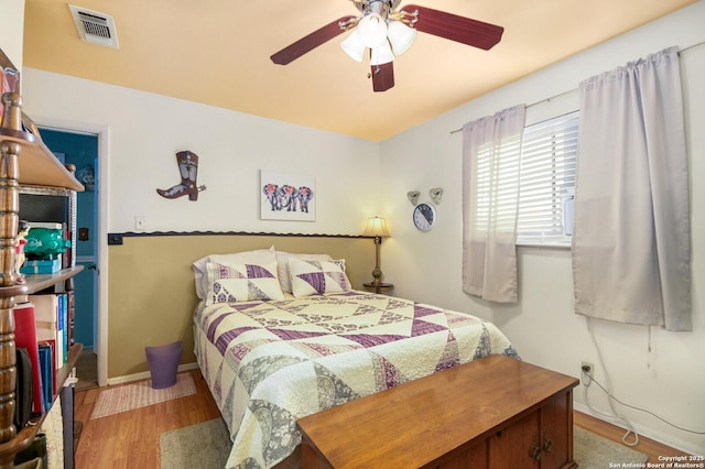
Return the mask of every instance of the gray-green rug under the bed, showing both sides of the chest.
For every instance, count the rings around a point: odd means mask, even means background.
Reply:
[[[574,427],[573,437],[575,461],[582,469],[632,467],[629,463],[641,467],[648,459],[643,452],[577,426]],[[166,432],[159,439],[162,469],[223,469],[232,447],[221,418]]]

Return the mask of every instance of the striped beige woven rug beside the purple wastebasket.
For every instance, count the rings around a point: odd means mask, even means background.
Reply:
[[[196,384],[191,373],[180,373],[176,375],[176,384],[161,390],[152,389],[152,382],[149,380],[112,388],[100,393],[90,418],[106,417],[195,393]]]

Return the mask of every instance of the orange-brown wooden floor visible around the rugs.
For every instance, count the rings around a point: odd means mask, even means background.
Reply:
[[[220,416],[200,373],[191,372],[196,394],[102,418],[90,419],[100,389],[76,392],[75,416],[84,424],[76,451],[76,469],[159,469],[161,433]],[[579,412],[575,413],[574,422],[618,443],[625,434],[622,428]],[[684,455],[644,437],[639,437],[639,445],[633,449],[649,455],[650,462],[659,462],[659,456]]]

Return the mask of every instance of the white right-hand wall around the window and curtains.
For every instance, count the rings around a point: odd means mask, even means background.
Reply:
[[[578,377],[582,361],[596,364],[596,378],[611,383],[621,401],[648,408],[682,427],[705,432],[705,45],[681,54],[685,90],[692,194],[693,332],[652,331],[648,351],[646,327],[594,323],[595,346],[584,317],[573,313],[571,257],[567,250],[519,250],[520,303],[496,306],[462,291],[462,133],[465,122],[525,102],[527,119],[577,109],[583,79],[671,45],[681,48],[705,41],[705,2],[701,1],[644,28],[525,77],[468,102],[382,143],[386,182],[381,215],[392,237],[382,246],[386,280],[395,294],[467,310],[496,323],[527,361]],[[411,223],[406,192],[419,189],[427,200],[431,187],[443,187],[438,222],[427,232]],[[599,359],[601,351],[604,362]],[[651,367],[651,369],[649,368]],[[583,386],[576,408],[587,410]],[[604,393],[589,388],[589,402],[608,410]],[[675,429],[622,406],[644,435],[693,454],[705,454],[705,436]]]

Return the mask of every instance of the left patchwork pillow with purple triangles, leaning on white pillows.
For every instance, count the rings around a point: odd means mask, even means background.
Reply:
[[[206,263],[206,304],[284,299],[276,276],[276,261],[268,264]]]

